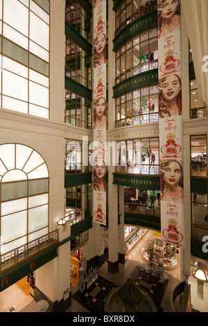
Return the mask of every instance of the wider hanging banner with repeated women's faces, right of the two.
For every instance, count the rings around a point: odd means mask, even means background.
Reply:
[[[162,240],[184,246],[180,0],[157,0]]]

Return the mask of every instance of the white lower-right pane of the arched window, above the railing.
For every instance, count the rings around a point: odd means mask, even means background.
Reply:
[[[28,210],[28,232],[34,232],[48,225],[48,205]]]

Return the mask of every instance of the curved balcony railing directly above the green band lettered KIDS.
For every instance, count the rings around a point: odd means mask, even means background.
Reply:
[[[132,68],[124,71],[119,76],[117,76],[115,78],[115,84],[119,84],[119,83],[121,83],[122,80],[129,78],[131,76],[140,74],[141,72],[148,71],[151,69],[157,69],[157,68],[158,68],[158,60],[157,59],[139,63],[139,65],[136,65],[135,67],[132,67]]]

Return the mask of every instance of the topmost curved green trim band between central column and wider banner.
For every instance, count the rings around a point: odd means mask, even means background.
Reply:
[[[121,45],[125,42],[130,40],[135,35],[146,31],[149,28],[153,28],[157,26],[157,10],[148,12],[146,15],[143,15],[133,22],[125,26],[122,31],[116,35],[114,38],[114,49],[113,51],[116,52]]]

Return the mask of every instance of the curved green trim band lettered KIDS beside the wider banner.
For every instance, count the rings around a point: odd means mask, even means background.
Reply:
[[[113,87],[113,98],[117,98],[134,89],[154,84],[158,84],[158,69],[148,70],[136,76],[126,78],[118,85],[115,85]]]

